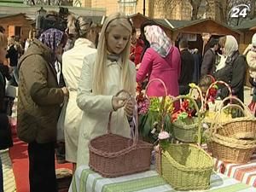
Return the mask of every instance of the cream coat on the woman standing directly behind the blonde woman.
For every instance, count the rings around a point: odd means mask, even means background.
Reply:
[[[62,73],[67,89],[69,90],[69,99],[64,121],[66,160],[74,163],[77,161],[79,128],[83,113],[76,102],[78,83],[83,67],[84,56],[92,53],[96,53],[94,44],[88,39],[79,38],[75,41],[73,49],[67,50],[67,52],[62,55]],[[65,108],[62,108],[62,110],[65,110]]]

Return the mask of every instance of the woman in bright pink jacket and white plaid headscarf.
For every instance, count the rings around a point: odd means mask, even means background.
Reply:
[[[137,82],[142,83],[148,74],[148,80],[161,79],[167,88],[167,94],[178,96],[178,79],[180,75],[180,54],[172,46],[160,26],[145,26],[144,35],[150,47],[143,55],[143,61],[137,71]],[[154,81],[148,86],[148,96],[165,96],[163,85]]]

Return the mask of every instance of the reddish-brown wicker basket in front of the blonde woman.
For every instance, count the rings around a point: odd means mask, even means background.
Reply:
[[[117,96],[121,92],[124,90],[119,91]],[[103,177],[119,177],[149,170],[153,145],[138,140],[137,123],[133,138],[113,134],[111,116],[112,113],[109,114],[108,133],[90,140],[90,168]]]

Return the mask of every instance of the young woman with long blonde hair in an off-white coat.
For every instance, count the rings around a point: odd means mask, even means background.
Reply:
[[[90,140],[107,133],[110,112],[113,112],[111,131],[130,137],[128,117],[132,116],[135,102],[115,95],[119,90],[127,90],[135,96],[136,69],[129,60],[131,29],[125,15],[109,15],[102,26],[96,54],[84,58],[77,97],[78,106],[84,111],[78,166],[89,163]]]

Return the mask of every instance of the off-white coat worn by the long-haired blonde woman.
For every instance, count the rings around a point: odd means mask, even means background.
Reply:
[[[96,54],[87,55],[84,58],[81,79],[79,81],[79,90],[77,102],[83,113],[82,123],[79,134],[79,149],[77,166],[88,165],[90,139],[102,136],[107,133],[108,115],[113,111],[112,97],[119,90],[122,90],[121,80],[121,62],[107,61],[106,65],[106,89],[103,95],[93,96],[92,79],[93,64],[96,60]],[[134,89],[136,84],[136,68],[133,63],[131,66],[132,79],[134,79]],[[130,126],[125,115],[124,108],[119,108],[113,112],[111,120],[111,131],[124,137],[131,136]]]

